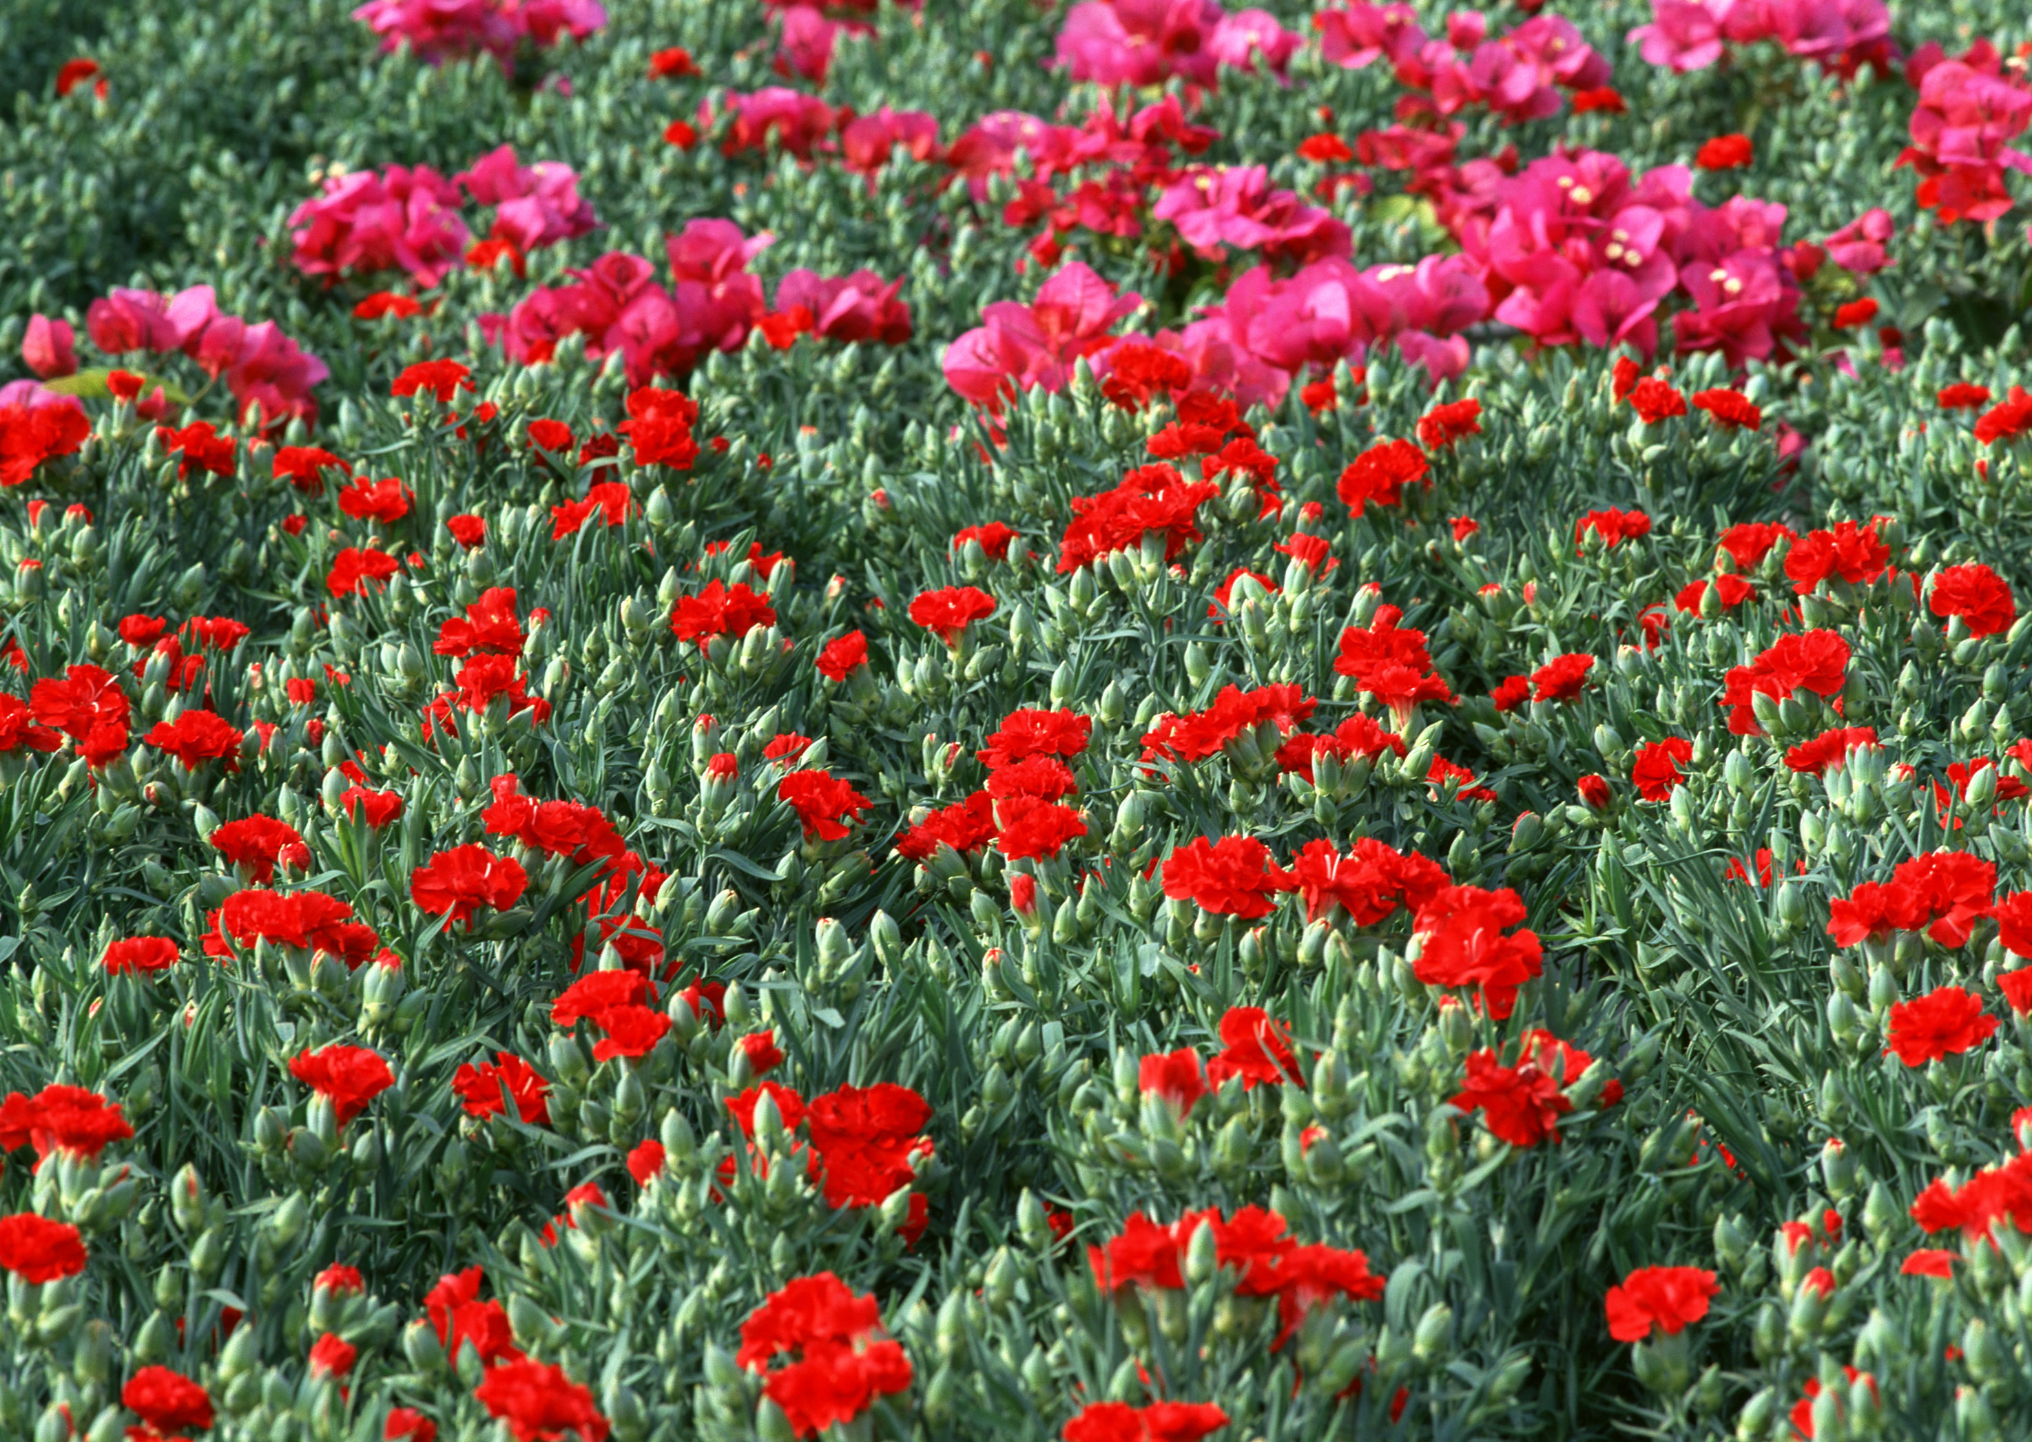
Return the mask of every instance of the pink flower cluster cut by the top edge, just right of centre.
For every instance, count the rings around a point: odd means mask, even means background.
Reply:
[[[1303,39],[1268,10],[1227,14],[1219,0],[1081,0],[1065,14],[1057,63],[1075,81],[1213,89],[1221,67],[1282,79]]]

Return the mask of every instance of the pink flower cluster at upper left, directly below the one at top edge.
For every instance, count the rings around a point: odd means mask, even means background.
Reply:
[[[471,252],[459,187],[475,205],[494,207],[490,238]],[[579,197],[579,177],[569,165],[520,165],[514,146],[500,146],[449,181],[427,165],[333,175],[289,223],[291,258],[307,276],[331,284],[341,276],[402,270],[431,288],[459,264],[492,264],[504,254],[520,272],[530,250],[585,236],[599,217]]]

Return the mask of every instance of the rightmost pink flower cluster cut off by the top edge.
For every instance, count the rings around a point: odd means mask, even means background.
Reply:
[[[1731,45],[1774,41],[1837,75],[1890,69],[1892,16],[1884,0],[1652,0],[1652,22],[1630,32],[1650,65],[1707,69]]]

